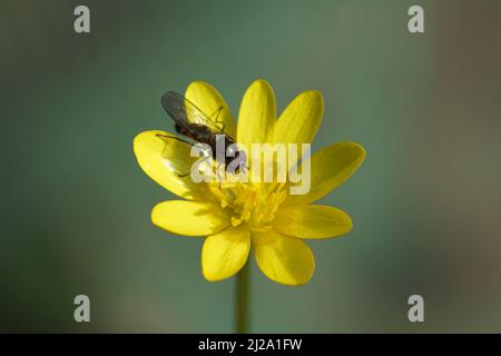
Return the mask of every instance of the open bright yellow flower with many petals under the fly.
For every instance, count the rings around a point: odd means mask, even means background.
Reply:
[[[185,97],[203,112],[223,107],[218,120],[238,144],[311,144],[321,125],[323,99],[318,91],[298,95],[276,119],[275,95],[264,80],[256,80],[244,95],[235,125],[227,103],[210,85],[195,81]],[[206,237],[202,270],[207,280],[232,277],[245,265],[250,246],[261,270],[285,285],[307,283],[315,269],[305,239],[336,237],[352,229],[350,216],[341,209],[311,205],[347,179],[365,157],[362,146],[340,142],[313,154],[311,189],[289,195],[281,184],[196,184],[179,172],[189,171],[196,158],[190,147],[145,131],[134,140],[139,166],[155,181],[185,200],[158,204],[151,220],[158,227],[186,236]]]

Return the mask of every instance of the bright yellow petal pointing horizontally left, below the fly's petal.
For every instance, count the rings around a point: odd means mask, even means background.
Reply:
[[[186,236],[213,235],[229,226],[229,217],[217,205],[186,200],[156,205],[151,221],[167,231]]]

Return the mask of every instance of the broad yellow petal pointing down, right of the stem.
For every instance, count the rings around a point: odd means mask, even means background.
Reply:
[[[253,245],[257,265],[269,279],[297,286],[312,278],[315,258],[302,239],[269,230],[253,233]]]

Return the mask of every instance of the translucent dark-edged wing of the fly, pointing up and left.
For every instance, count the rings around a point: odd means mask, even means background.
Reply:
[[[224,134],[223,122],[214,121],[202,112],[195,103],[177,92],[167,91],[161,97],[161,106],[173,120],[184,128],[187,128],[188,123],[198,123],[206,126],[214,134]]]

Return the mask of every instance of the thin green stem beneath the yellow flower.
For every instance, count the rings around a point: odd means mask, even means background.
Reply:
[[[250,263],[245,263],[236,276],[236,332],[249,333],[249,300],[250,300]]]

